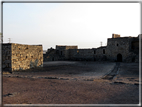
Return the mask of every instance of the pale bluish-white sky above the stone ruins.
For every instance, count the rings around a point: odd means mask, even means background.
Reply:
[[[3,40],[19,44],[103,46],[112,33],[140,34],[139,3],[4,3]]]

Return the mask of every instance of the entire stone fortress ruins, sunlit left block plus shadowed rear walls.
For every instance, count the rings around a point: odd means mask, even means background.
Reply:
[[[2,69],[6,71],[26,70],[42,67],[44,61],[122,61],[139,62],[139,38],[120,37],[113,34],[107,46],[78,49],[78,46],[50,48],[43,54],[42,45],[2,44]]]

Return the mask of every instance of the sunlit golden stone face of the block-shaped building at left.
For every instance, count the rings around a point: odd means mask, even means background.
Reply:
[[[42,45],[12,44],[12,71],[43,66]]]

